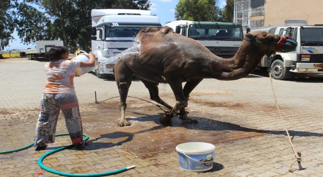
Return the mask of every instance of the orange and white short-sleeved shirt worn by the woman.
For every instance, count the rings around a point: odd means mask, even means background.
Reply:
[[[43,94],[72,94],[74,90],[74,76],[79,60],[57,60],[45,64],[47,83]]]

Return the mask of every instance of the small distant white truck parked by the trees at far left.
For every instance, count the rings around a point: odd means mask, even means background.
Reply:
[[[28,60],[37,60],[44,58],[50,48],[54,46],[64,46],[63,40],[37,40],[35,49],[27,49],[26,55]]]

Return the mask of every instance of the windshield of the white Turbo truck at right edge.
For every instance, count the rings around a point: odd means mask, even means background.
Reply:
[[[323,28],[300,28],[301,45],[323,46]]]

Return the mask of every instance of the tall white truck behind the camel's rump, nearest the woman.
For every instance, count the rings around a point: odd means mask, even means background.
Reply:
[[[133,9],[93,9],[91,47],[99,63],[98,78],[113,76],[116,60],[109,60],[132,47],[139,30],[161,27],[159,18],[150,11]]]

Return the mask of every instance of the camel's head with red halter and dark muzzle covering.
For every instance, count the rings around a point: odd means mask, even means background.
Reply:
[[[267,56],[275,55],[276,52],[291,52],[296,49],[297,42],[290,36],[281,36],[265,31],[249,32],[245,35],[245,40],[258,51]]]

